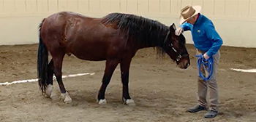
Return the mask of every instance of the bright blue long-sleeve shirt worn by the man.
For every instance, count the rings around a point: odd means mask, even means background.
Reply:
[[[222,38],[214,28],[214,24],[204,15],[199,15],[194,25],[183,23],[184,31],[191,31],[195,48],[206,52],[211,57],[222,46]]]

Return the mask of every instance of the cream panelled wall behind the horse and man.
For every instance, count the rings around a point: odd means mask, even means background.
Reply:
[[[256,47],[256,0],[0,0],[0,44],[38,42],[38,25],[55,12],[79,12],[103,17],[124,12],[176,23],[181,8],[201,5],[203,15],[213,20],[226,46]],[[192,43],[190,32],[186,33]]]

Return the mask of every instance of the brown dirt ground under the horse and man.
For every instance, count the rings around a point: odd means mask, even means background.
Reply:
[[[65,57],[63,74],[95,73],[93,76],[64,78],[73,102],[59,100],[54,81],[54,97],[42,97],[37,82],[0,86],[0,121],[256,121],[256,74],[230,68],[256,68],[256,49],[223,46],[219,63],[219,115],[205,119],[206,111],[187,113],[197,103],[195,49],[187,45],[192,65],[179,69],[169,57],[158,58],[154,49],[141,49],[132,60],[129,91],[136,106],[121,102],[121,76],[116,68],[106,91],[107,105],[97,105],[105,62],[89,62]],[[0,46],[0,82],[37,77],[37,44]]]

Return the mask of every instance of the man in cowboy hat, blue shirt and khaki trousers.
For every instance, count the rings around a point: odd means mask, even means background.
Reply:
[[[219,64],[219,48],[222,46],[222,38],[214,28],[214,24],[204,15],[200,14],[200,6],[187,6],[181,9],[180,28],[176,30],[179,36],[183,31],[191,31],[197,54],[203,54],[207,60],[210,57],[214,59],[214,69],[212,77],[209,81],[203,81],[198,78],[198,104],[188,109],[190,113],[196,113],[200,110],[207,110],[205,118],[214,118],[218,114],[218,89],[217,89],[217,66]],[[204,68],[200,69],[203,73],[207,73]],[[206,95],[209,95],[208,103]]]

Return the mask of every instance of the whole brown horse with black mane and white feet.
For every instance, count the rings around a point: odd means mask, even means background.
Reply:
[[[97,94],[99,105],[107,103],[105,90],[113,71],[120,64],[122,100],[126,105],[135,102],[129,95],[129,67],[138,49],[156,47],[176,62],[179,68],[188,68],[189,54],[186,39],[175,35],[170,27],[138,15],[110,13],[105,17],[86,17],[75,12],[58,12],[42,20],[39,25],[37,76],[39,88],[45,97],[53,91],[53,74],[59,84],[63,102],[72,102],[62,82],[62,62],[65,54],[81,60],[105,62],[102,85]],[[52,59],[48,61],[48,52]]]

